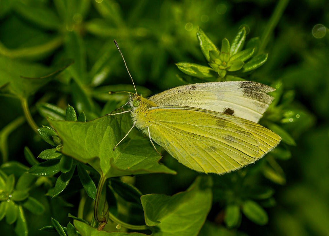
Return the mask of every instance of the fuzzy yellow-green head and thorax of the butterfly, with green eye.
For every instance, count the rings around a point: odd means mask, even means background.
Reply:
[[[143,98],[141,95],[130,97],[128,104],[131,107],[131,117],[133,122],[136,121],[135,127],[142,132],[147,133],[147,126],[150,126],[150,120],[146,118],[147,110],[151,107],[155,107],[156,104]]]

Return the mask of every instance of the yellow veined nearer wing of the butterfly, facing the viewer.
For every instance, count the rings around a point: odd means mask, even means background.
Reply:
[[[263,157],[281,138],[242,118],[188,107],[147,110],[151,138],[183,165],[225,173]]]

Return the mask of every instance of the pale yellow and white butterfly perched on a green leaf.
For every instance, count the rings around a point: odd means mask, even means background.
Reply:
[[[135,88],[126,103],[131,109],[111,115],[131,113],[133,125],[124,138],[136,127],[160,155],[152,140],[190,169],[223,174],[255,162],[280,143],[279,135],[257,123],[273,100],[267,94],[272,91],[253,81],[225,81],[183,85],[144,98]]]

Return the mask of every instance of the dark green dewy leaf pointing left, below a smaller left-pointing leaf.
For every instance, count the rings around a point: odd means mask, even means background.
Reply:
[[[53,159],[41,162],[28,170],[30,174],[38,176],[49,176],[60,172],[60,160]]]

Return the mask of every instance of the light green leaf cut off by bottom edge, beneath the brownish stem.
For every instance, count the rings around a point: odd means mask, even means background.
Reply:
[[[125,233],[125,232],[106,232],[106,231],[98,231],[96,228],[91,227],[90,225],[74,220],[73,224],[75,228],[81,233],[81,235],[88,236],[145,236],[143,233]]]

